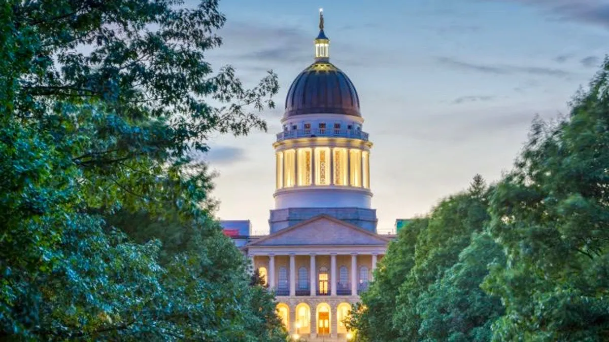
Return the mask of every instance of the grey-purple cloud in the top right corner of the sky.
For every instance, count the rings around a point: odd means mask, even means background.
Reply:
[[[558,19],[596,24],[609,29],[607,0],[501,0],[520,2],[546,9]]]

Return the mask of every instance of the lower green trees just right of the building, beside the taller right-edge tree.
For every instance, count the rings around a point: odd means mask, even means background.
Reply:
[[[357,340],[482,341],[489,335],[488,320],[498,316],[501,304],[478,285],[487,263],[501,262],[501,250],[476,233],[488,223],[490,193],[476,175],[470,189],[400,232],[354,310]]]

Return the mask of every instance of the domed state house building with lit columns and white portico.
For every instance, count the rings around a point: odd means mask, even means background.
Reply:
[[[370,149],[359,97],[329,61],[329,39],[315,38],[315,61],[292,82],[273,144],[275,209],[270,234],[250,236],[248,221],[224,221],[277,299],[290,335],[345,341],[343,319],[367,290],[395,237],[376,232]]]

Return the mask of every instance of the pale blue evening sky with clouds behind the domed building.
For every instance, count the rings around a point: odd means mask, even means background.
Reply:
[[[323,7],[330,61],[354,83],[374,143],[370,185],[378,232],[424,215],[476,173],[512,168],[533,118],[568,113],[608,52],[609,0],[222,0],[224,44],[209,52],[255,86],[272,69],[267,132],[214,136],[217,217],[269,231],[275,160],[292,80],[313,61]]]

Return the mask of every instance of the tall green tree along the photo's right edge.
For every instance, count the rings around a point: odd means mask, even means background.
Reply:
[[[556,124],[537,120],[491,200],[507,251],[485,289],[495,341],[609,340],[609,59]]]

